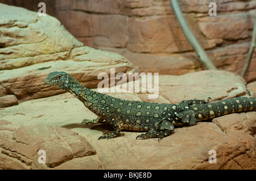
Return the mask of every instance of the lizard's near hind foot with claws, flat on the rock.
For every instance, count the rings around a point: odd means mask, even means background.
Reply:
[[[167,137],[169,135],[172,134],[172,131],[173,130],[170,130],[170,129],[165,129],[163,131],[148,131],[146,133],[143,133],[143,134],[140,134],[139,136],[136,137],[136,140],[138,138],[141,138],[141,139],[148,139],[148,138],[155,138],[155,137],[158,137],[158,141],[161,140],[163,137]]]

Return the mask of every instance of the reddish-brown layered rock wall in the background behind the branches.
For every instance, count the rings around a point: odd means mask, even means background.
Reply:
[[[38,11],[40,1],[8,1]],[[120,53],[144,72],[180,75],[203,70],[177,23],[168,0],[44,1],[46,11],[64,24],[79,41]],[[217,16],[209,16],[210,2]],[[256,1],[180,0],[193,33],[218,69],[241,73],[255,18]],[[256,57],[246,81],[256,79]]]

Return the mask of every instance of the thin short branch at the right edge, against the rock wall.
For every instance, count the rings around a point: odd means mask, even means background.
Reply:
[[[243,70],[242,70],[242,73],[241,73],[241,77],[243,77],[243,78],[245,78],[246,72],[249,69],[249,66],[251,64],[251,58],[253,57],[255,43],[256,43],[256,15],[255,15],[255,20],[254,20],[253,37],[251,38],[250,49],[249,49],[249,52],[247,54],[247,58],[246,58],[246,61],[245,61],[245,66],[243,66]]]

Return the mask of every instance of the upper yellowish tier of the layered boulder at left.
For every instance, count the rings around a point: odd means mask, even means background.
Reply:
[[[36,64],[38,62],[34,59],[38,57],[35,56],[40,56],[39,62],[45,62],[44,54],[49,57],[49,54],[57,53],[57,57],[64,58],[71,49],[82,46],[52,16],[38,16],[37,12],[4,4],[1,4],[0,9],[3,12],[0,22],[3,36],[0,70]],[[16,60],[17,57],[22,59]],[[53,57],[46,59],[55,60]]]

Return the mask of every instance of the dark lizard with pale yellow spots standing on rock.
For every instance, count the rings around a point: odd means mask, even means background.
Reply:
[[[159,139],[169,136],[176,125],[195,125],[196,121],[212,119],[233,112],[256,111],[256,99],[238,97],[208,103],[204,100],[183,100],[179,104],[150,103],[124,100],[101,94],[82,86],[64,71],[49,73],[44,83],[58,86],[71,92],[98,117],[83,120],[82,123],[101,123],[105,120],[112,125],[112,133],[104,133],[101,138],[114,138],[122,129],[147,131],[137,138]]]

